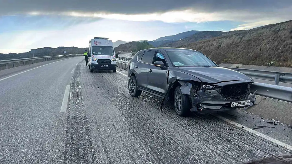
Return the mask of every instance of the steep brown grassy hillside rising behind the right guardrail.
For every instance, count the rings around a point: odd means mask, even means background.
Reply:
[[[292,67],[292,20],[232,31],[224,36],[177,47],[198,50],[219,63]]]

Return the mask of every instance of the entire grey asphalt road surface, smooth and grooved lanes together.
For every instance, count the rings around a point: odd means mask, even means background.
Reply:
[[[292,153],[212,115],[179,117],[167,102],[160,111],[160,98],[129,95],[123,71],[90,73],[81,59],[0,81],[1,164],[236,163]],[[60,112],[67,85],[68,108]],[[242,115],[244,126],[256,117]]]

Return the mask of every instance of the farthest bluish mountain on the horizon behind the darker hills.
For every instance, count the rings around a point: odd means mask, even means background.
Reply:
[[[186,31],[186,32],[175,34],[175,35],[160,37],[158,39],[155,39],[155,40],[152,40],[152,41],[148,41],[148,43],[153,45],[154,47],[157,47],[159,45],[163,45],[163,44],[166,44],[166,43],[170,43],[170,42],[173,42],[173,41],[177,41],[177,40],[183,39],[183,38],[188,37],[188,36],[192,36],[192,35],[194,35],[195,33],[198,33],[198,32],[201,32],[201,31],[194,31],[194,30]]]

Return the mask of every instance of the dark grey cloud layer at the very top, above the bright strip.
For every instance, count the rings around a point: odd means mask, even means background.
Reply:
[[[0,14],[44,12],[88,12],[96,11],[122,14],[167,12],[173,10],[194,9],[198,12],[216,12],[224,10],[267,11],[291,5],[291,0],[2,0]]]

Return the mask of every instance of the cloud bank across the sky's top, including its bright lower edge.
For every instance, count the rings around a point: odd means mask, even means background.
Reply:
[[[70,4],[70,5],[68,5]],[[291,0],[3,0],[0,15],[63,15],[131,21],[208,22],[291,19]]]

